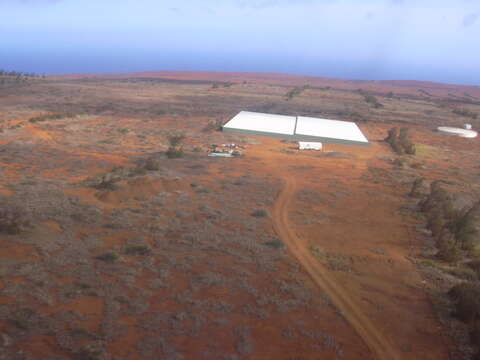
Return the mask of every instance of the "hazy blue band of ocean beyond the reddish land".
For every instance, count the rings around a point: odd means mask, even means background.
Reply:
[[[161,70],[270,72],[359,80],[422,80],[480,86],[477,69],[442,69],[368,61],[315,60],[307,57],[250,54],[154,52],[30,52],[0,53],[0,69],[37,74],[141,72]]]

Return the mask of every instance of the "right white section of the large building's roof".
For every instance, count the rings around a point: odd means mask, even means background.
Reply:
[[[357,124],[349,121],[299,116],[295,134],[368,143]]]

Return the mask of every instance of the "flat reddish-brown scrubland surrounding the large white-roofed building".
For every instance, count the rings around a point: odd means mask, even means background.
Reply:
[[[371,146],[299,152],[215,131],[240,110],[356,121]],[[0,200],[25,220],[0,233],[0,359],[462,358],[408,193],[422,176],[478,198],[478,140],[433,131],[479,128],[470,113],[479,88],[433,83],[0,84]],[[392,127],[410,129],[416,156],[382,141]],[[184,156],[169,159],[180,133]],[[207,157],[225,143],[244,156]]]

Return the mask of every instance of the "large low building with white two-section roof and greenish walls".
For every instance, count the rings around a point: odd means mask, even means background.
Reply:
[[[261,135],[298,141],[370,145],[357,124],[349,121],[241,111],[223,126],[226,133]]]

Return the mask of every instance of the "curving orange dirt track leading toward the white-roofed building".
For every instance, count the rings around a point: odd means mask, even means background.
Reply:
[[[313,281],[327,293],[333,305],[340,310],[344,318],[363,339],[374,357],[378,360],[400,360],[399,353],[372,324],[348,292],[336,283],[335,279],[329,275],[328,270],[310,254],[309,249],[301,243],[291,229],[288,220],[288,205],[295,194],[295,180],[291,177],[284,180],[285,186],[273,208],[273,222],[277,234]]]

